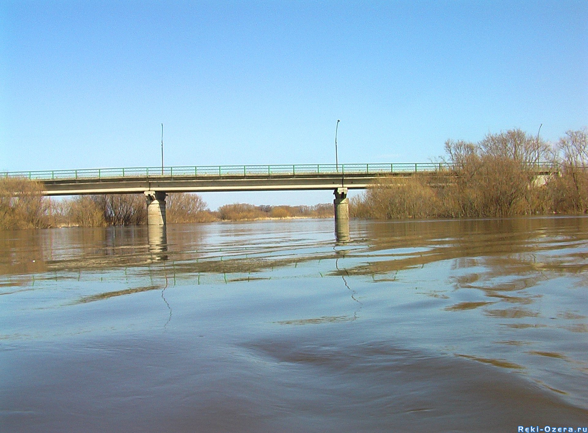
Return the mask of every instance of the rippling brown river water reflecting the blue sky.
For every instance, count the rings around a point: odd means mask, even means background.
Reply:
[[[0,232],[2,432],[588,427],[588,218]]]

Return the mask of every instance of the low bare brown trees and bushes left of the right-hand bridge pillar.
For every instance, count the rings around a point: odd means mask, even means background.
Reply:
[[[147,222],[142,194],[81,195],[55,199],[41,195],[42,184],[22,178],[0,179],[0,229],[54,226],[141,225]],[[332,204],[253,206],[230,204],[211,211],[198,194],[174,193],[166,198],[169,224],[262,218],[326,218]]]

